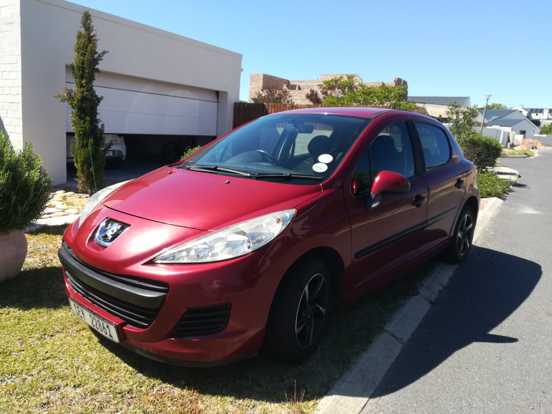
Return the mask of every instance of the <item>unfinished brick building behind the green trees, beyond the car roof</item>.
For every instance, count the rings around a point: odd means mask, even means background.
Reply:
[[[335,77],[346,77],[344,73],[322,74],[320,79],[284,79],[266,73],[252,73],[249,78],[249,102],[253,102],[253,97],[258,92],[267,89],[287,89],[294,103],[309,104],[312,103],[306,99],[306,94],[311,90],[320,90],[322,81],[328,81]],[[392,82],[364,82],[362,78],[355,75],[358,83],[364,83],[366,86],[406,86],[406,96],[408,96],[408,83],[396,77]]]

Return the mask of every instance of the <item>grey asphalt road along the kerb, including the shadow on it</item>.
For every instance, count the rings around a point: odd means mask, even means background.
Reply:
[[[522,177],[362,413],[552,413],[552,149]]]

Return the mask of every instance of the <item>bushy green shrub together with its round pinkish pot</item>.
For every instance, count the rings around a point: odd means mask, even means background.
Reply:
[[[51,186],[32,144],[15,151],[0,131],[0,283],[21,270],[27,255],[23,230],[42,215]]]

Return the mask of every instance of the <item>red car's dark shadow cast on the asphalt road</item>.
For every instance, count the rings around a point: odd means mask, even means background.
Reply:
[[[474,342],[531,340],[490,332],[523,304],[541,276],[539,264],[474,246],[372,397],[412,384]]]

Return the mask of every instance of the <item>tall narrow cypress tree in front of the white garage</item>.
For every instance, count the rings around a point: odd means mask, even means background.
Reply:
[[[71,145],[71,153],[77,168],[78,187],[79,191],[90,194],[103,185],[108,150],[103,140],[103,124],[98,117],[98,106],[103,97],[99,97],[93,88],[99,73],[98,64],[107,50],[97,52],[98,38],[88,10],[82,15],[81,26],[74,48],[75,61],[71,64],[75,90],[63,88],[63,93],[54,96],[67,102],[71,108],[70,123],[77,141]]]

